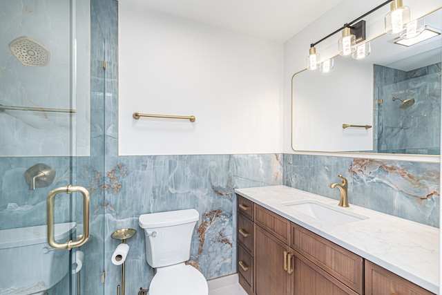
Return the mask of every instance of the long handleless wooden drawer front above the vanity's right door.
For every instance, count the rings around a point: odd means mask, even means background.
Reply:
[[[291,223],[291,247],[321,269],[363,294],[363,258]]]

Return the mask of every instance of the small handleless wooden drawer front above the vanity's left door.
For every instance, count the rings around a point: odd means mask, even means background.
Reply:
[[[281,242],[289,245],[290,242],[290,222],[289,220],[273,213],[270,210],[255,204],[255,222],[260,225]]]

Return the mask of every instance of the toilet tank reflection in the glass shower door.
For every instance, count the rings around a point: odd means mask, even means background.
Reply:
[[[55,225],[55,239],[67,240],[75,222]],[[52,249],[46,225],[0,230],[0,294],[34,294],[50,289],[70,270],[69,251]]]

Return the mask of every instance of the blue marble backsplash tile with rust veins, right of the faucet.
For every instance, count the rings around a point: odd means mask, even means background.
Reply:
[[[349,202],[439,227],[439,164],[354,159]]]

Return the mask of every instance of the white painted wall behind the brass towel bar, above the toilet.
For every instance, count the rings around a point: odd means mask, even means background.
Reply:
[[[280,153],[282,75],[281,43],[119,1],[119,155]]]

